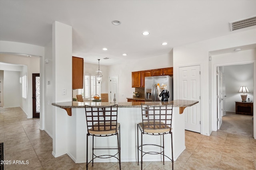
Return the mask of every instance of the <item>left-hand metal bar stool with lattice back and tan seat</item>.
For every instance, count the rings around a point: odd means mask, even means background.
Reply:
[[[86,170],[88,164],[95,158],[111,158],[115,157],[119,161],[119,168],[121,169],[120,162],[120,123],[117,122],[118,105],[112,106],[88,106],[85,105],[86,122],[87,122],[87,142],[86,142]],[[88,162],[88,137],[92,136],[92,160]],[[117,147],[115,148],[94,148],[94,137],[109,137],[117,136]],[[114,155],[104,154],[96,156],[94,150],[97,149],[116,149],[118,152]],[[118,155],[118,157],[117,157]]]

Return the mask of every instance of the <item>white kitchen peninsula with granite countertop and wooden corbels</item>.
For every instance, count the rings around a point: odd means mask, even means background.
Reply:
[[[116,102],[118,104],[118,122],[120,123],[120,137],[121,137],[121,161],[135,162],[137,161],[137,123],[141,122],[141,103],[149,105],[173,104],[173,145],[174,145],[174,160],[183,152],[185,147],[185,127],[183,111],[186,107],[193,107],[198,101],[191,100],[174,100],[170,102]],[[90,106],[110,106],[111,102],[60,102],[52,103],[56,106],[56,120],[55,133],[53,136],[53,152],[55,157],[63,154],[68,154],[76,163],[86,162],[86,117],[85,105]],[[65,111],[65,110],[67,111]],[[184,110],[185,109],[185,110]],[[70,112],[67,114],[67,112]],[[145,138],[145,141],[152,141],[153,143],[161,143],[162,138],[152,138],[150,135]],[[116,145],[116,136],[109,137],[106,141],[95,141],[95,146],[98,147],[113,147]],[[171,153],[170,136],[165,138],[165,150],[167,156]],[[169,145],[168,145],[169,144]],[[92,148],[91,142],[88,148]],[[145,147],[146,149],[146,147]],[[97,150],[98,151],[98,150]],[[101,151],[102,152],[102,151]],[[106,151],[108,154],[112,150]],[[89,149],[89,156],[91,157],[91,149]],[[160,155],[148,155],[145,161],[162,160]],[[95,159],[95,162],[116,162],[116,159]]]

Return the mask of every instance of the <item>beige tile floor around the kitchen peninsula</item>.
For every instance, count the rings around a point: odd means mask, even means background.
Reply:
[[[255,170],[256,140],[226,132],[210,136],[186,131],[186,150],[174,162],[175,170]],[[39,119],[27,119],[20,107],[0,108],[0,142],[4,142],[5,160],[24,160],[24,164],[6,164],[5,170],[82,170],[68,155],[52,156],[52,139],[39,130]],[[28,164],[26,164],[28,160]],[[123,170],[139,170],[136,162],[122,162]],[[144,170],[170,170],[166,162],[144,162]],[[118,170],[118,163],[95,163],[90,169]]]

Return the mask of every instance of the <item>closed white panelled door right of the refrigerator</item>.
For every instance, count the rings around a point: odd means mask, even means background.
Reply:
[[[198,104],[186,107],[185,129],[201,133],[200,117],[200,66],[179,68],[179,98],[180,100],[197,100]]]

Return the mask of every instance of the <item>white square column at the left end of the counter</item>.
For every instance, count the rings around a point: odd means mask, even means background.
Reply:
[[[72,100],[72,27],[57,21],[52,24],[52,102]],[[66,89],[66,94],[63,94]],[[52,154],[55,157],[67,153],[67,131],[70,125],[64,109],[52,106]],[[75,140],[75,139],[74,139]]]

